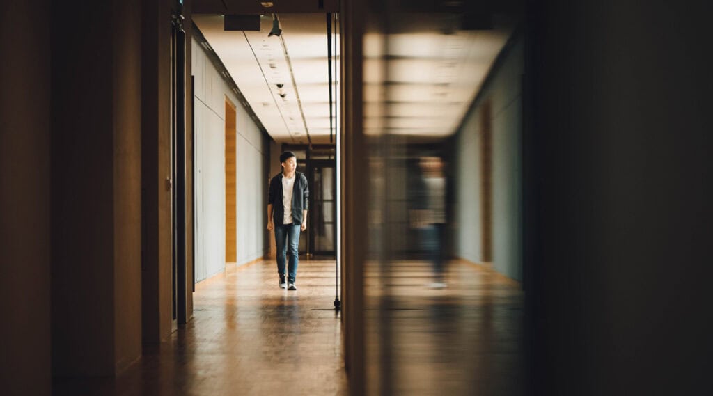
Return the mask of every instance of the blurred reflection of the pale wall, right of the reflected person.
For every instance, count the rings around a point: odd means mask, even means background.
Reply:
[[[506,48],[478,103],[458,132],[456,176],[456,255],[483,261],[481,229],[481,105],[491,101],[492,116],[492,251],[496,271],[522,280],[522,74],[524,44]]]

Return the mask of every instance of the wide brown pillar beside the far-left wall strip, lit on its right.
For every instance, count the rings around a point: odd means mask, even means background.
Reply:
[[[114,6],[138,25],[138,1]],[[56,376],[114,375],[141,353],[140,36],[112,11],[52,7]]]

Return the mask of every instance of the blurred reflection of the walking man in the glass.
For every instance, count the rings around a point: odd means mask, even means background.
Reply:
[[[416,209],[411,211],[411,224],[420,230],[421,247],[434,269],[434,288],[446,287],[443,276],[446,241],[446,177],[440,157],[421,157],[421,178],[414,197]]]

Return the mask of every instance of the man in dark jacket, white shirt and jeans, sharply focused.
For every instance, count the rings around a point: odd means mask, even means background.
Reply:
[[[279,287],[297,290],[294,282],[299,261],[299,231],[307,229],[309,188],[307,177],[296,171],[297,157],[293,152],[283,152],[279,162],[282,172],[270,180],[267,194],[267,229],[275,229]],[[289,258],[287,280],[284,276],[285,254]]]

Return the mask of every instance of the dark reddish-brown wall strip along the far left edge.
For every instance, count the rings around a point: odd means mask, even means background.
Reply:
[[[0,13],[0,393],[49,395],[49,1]]]

